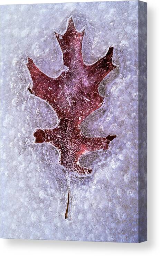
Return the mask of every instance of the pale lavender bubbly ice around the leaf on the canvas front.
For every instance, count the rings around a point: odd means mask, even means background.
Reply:
[[[116,134],[110,150],[81,161],[91,177],[67,178],[58,152],[34,144],[36,128],[56,126],[54,111],[27,91],[26,54],[48,76],[63,69],[54,31],[72,15],[85,26],[91,64],[114,46],[120,65],[101,83],[103,107],[82,125],[87,136]],[[138,1],[1,6],[1,237],[138,242]],[[144,191],[145,193],[145,191]]]

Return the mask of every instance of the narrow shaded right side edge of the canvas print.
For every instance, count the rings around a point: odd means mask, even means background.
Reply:
[[[147,3],[138,1],[138,242],[147,241]]]

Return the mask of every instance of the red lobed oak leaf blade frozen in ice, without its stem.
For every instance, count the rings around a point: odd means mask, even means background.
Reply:
[[[87,151],[107,150],[109,143],[116,137],[90,138],[82,134],[83,120],[103,104],[103,97],[98,87],[103,78],[115,66],[112,64],[113,47],[104,57],[86,65],[82,57],[84,31],[78,32],[73,19],[68,21],[65,34],[55,33],[63,52],[64,65],[68,67],[58,77],[45,75],[28,58],[27,67],[32,79],[30,93],[48,102],[58,115],[55,129],[38,129],[35,131],[35,143],[50,143],[59,151],[59,163],[69,172],[87,175],[89,168],[79,165],[79,158]]]

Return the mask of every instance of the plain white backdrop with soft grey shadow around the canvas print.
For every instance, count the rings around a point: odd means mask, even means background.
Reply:
[[[100,0],[99,0],[100,1]],[[69,1],[3,1],[1,4]],[[72,1],[74,2],[74,1]],[[83,2],[81,0],[80,2]],[[159,255],[160,254],[160,1],[148,2],[148,241],[141,244],[0,239],[1,255]]]

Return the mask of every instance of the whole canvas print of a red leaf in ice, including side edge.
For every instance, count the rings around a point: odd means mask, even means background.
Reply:
[[[0,11],[0,237],[146,241],[147,4]]]

